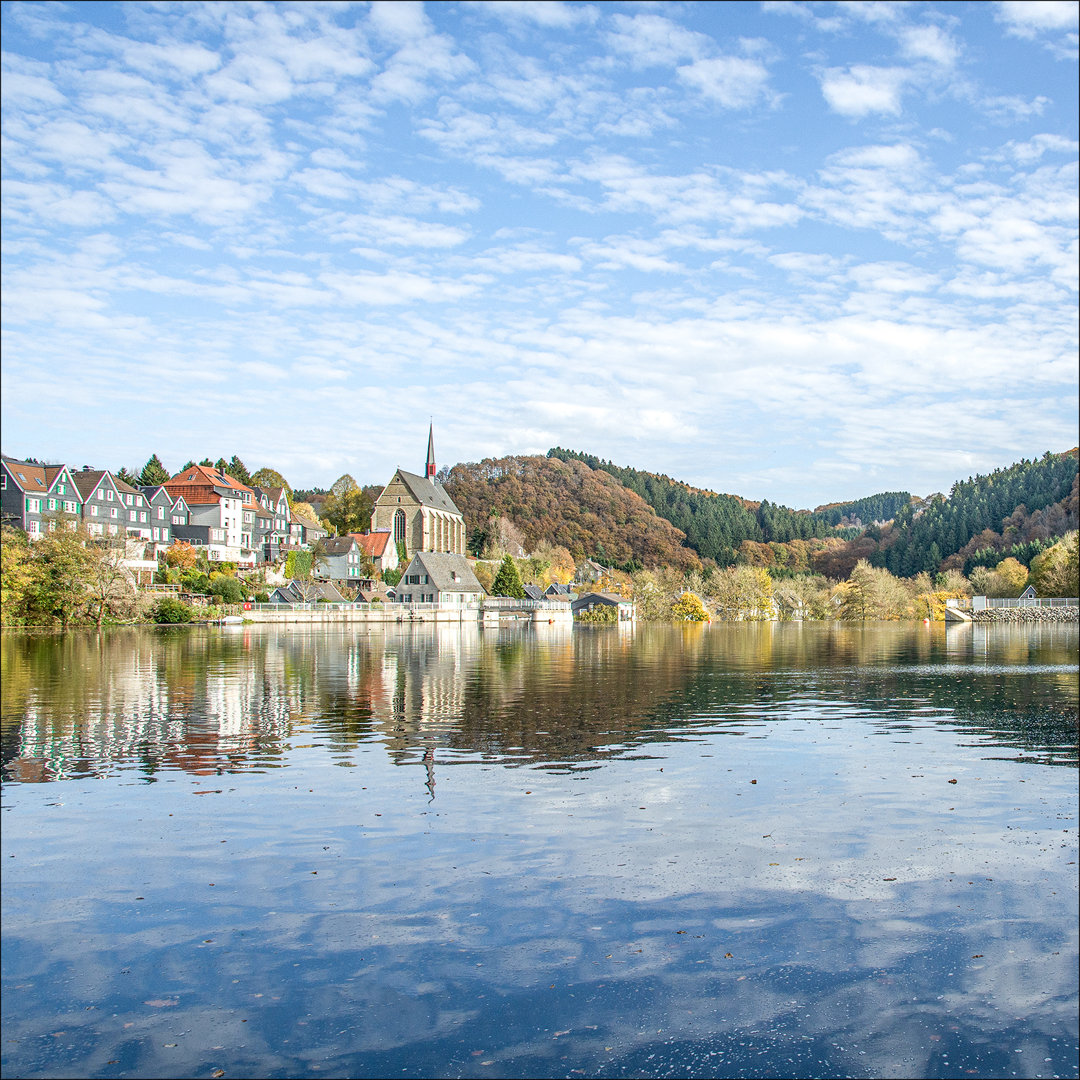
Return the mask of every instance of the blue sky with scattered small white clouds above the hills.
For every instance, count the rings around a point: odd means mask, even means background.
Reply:
[[[1076,3],[4,3],[4,453],[584,449],[793,507],[1078,441]]]

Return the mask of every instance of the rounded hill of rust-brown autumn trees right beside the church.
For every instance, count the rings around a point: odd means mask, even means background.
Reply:
[[[487,458],[455,465],[444,477],[461,511],[469,545],[478,551],[492,518],[508,518],[535,551],[566,548],[576,561],[693,569],[698,556],[684,535],[642,498],[583,461],[544,457]]]

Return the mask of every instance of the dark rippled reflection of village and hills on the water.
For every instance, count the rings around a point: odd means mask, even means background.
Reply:
[[[307,732],[337,757],[377,739],[433,796],[440,748],[582,768],[837,706],[1077,762],[1070,626],[141,630],[2,649],[3,775],[24,783],[273,768]]]

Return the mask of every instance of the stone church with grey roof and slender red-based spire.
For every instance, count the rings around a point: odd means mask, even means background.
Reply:
[[[435,481],[434,426],[428,429],[424,475],[399,469],[375,501],[373,532],[389,532],[405,565],[417,552],[465,553],[465,522]]]

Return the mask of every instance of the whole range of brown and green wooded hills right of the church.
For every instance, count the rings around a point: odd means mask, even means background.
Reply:
[[[1024,459],[953,485],[947,497],[886,491],[795,511],[717,495],[669,476],[555,448],[546,457],[456,465],[446,487],[474,550],[492,517],[507,517],[527,546],[546,541],[576,559],[691,569],[761,566],[774,575],[814,570],[845,579],[865,558],[900,577],[1028,565],[1080,516],[1076,450]],[[861,523],[858,524],[858,523]]]

